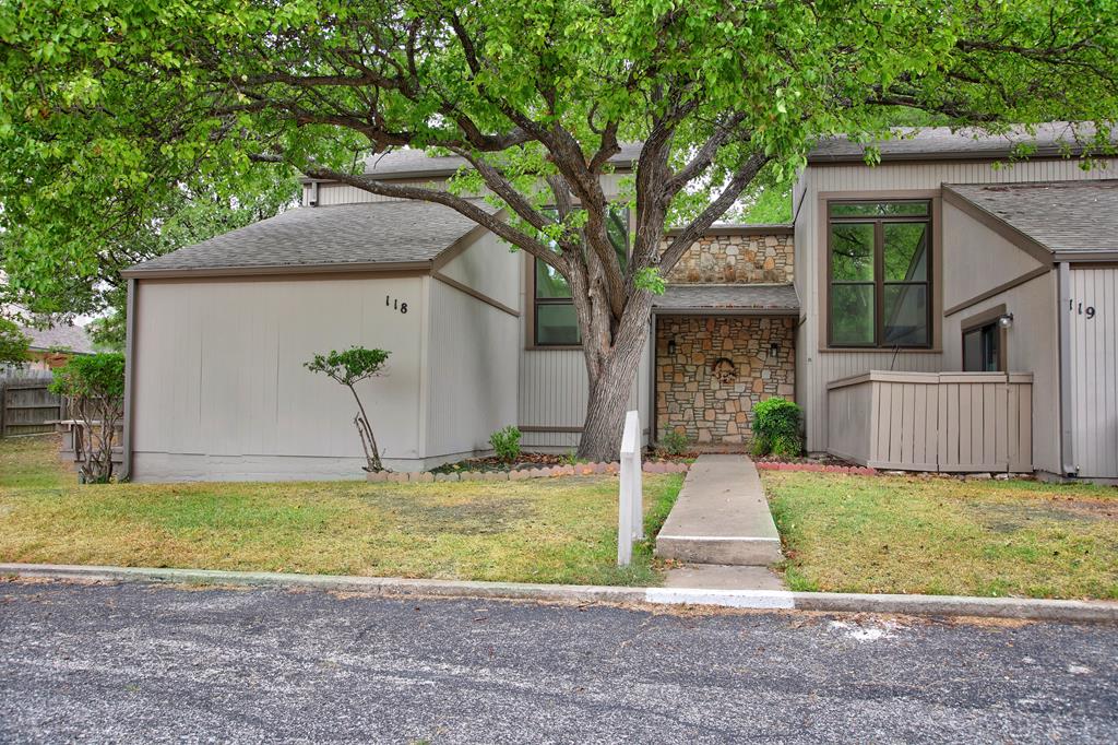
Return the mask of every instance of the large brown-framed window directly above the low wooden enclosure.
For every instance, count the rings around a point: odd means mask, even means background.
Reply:
[[[828,343],[931,345],[931,206],[832,201],[828,209]]]

